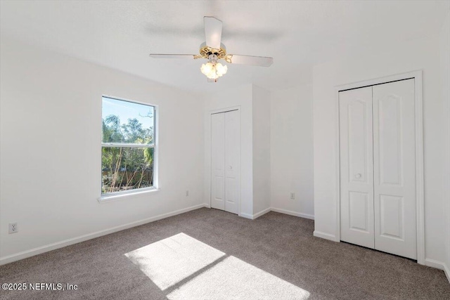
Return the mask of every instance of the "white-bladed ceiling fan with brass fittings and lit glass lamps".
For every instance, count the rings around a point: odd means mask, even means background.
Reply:
[[[269,67],[274,58],[264,56],[240,56],[236,54],[227,54],[226,47],[221,43],[222,21],[214,17],[203,17],[205,24],[205,43],[200,45],[200,54],[150,54],[152,58],[187,58],[199,59],[205,58],[207,63],[200,67],[200,71],[206,75],[208,82],[217,82],[217,78],[226,74],[228,67],[219,63],[219,60],[225,60],[226,63],[241,65],[258,65]]]

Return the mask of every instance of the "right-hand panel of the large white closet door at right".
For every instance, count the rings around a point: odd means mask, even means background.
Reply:
[[[417,259],[414,79],[373,86],[375,249]]]

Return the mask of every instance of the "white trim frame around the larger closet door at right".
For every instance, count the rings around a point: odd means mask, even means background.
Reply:
[[[425,265],[425,203],[423,183],[423,99],[422,99],[422,70],[394,74],[352,84],[335,86],[335,162],[336,162],[336,233],[335,242],[340,242],[340,118],[339,118],[339,92],[349,89],[359,89],[377,84],[387,84],[392,81],[414,79],[414,98],[416,107],[416,226],[417,226],[417,262]]]

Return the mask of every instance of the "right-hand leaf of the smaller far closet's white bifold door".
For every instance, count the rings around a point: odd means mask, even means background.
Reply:
[[[240,112],[225,112],[225,210],[238,214],[240,195]]]

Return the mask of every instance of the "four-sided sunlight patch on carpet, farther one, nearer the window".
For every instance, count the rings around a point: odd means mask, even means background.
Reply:
[[[224,252],[184,233],[124,254],[162,290],[224,256]]]

